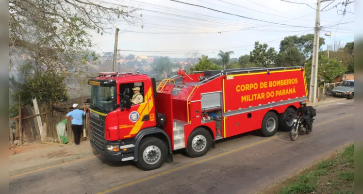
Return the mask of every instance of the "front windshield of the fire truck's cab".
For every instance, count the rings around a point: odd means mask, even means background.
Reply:
[[[113,111],[116,103],[115,86],[92,86],[91,106],[103,112]]]

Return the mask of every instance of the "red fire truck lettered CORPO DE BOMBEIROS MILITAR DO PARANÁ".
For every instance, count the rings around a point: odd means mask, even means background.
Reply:
[[[143,170],[172,162],[172,152],[205,155],[215,141],[252,130],[289,130],[307,100],[302,67],[179,70],[158,86],[148,75],[103,72],[91,78],[91,146],[107,160]],[[131,104],[132,88],[144,101]]]

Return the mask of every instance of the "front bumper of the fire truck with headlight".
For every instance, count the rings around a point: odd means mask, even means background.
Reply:
[[[133,139],[121,140],[121,141],[102,141],[102,144],[99,143],[97,138],[90,135],[90,143],[92,148],[101,155],[105,160],[108,161],[134,161],[134,149],[135,144]],[[106,150],[106,145],[119,146],[120,151],[109,151]]]

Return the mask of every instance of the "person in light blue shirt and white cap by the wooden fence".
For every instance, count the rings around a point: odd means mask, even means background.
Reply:
[[[78,104],[73,104],[73,111],[66,114],[66,118],[72,121],[72,131],[74,134],[74,142],[80,145],[83,116],[86,115],[86,106],[83,105],[83,111],[78,109]]]

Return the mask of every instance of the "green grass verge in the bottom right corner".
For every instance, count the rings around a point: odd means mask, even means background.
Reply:
[[[354,144],[259,194],[354,194]]]

